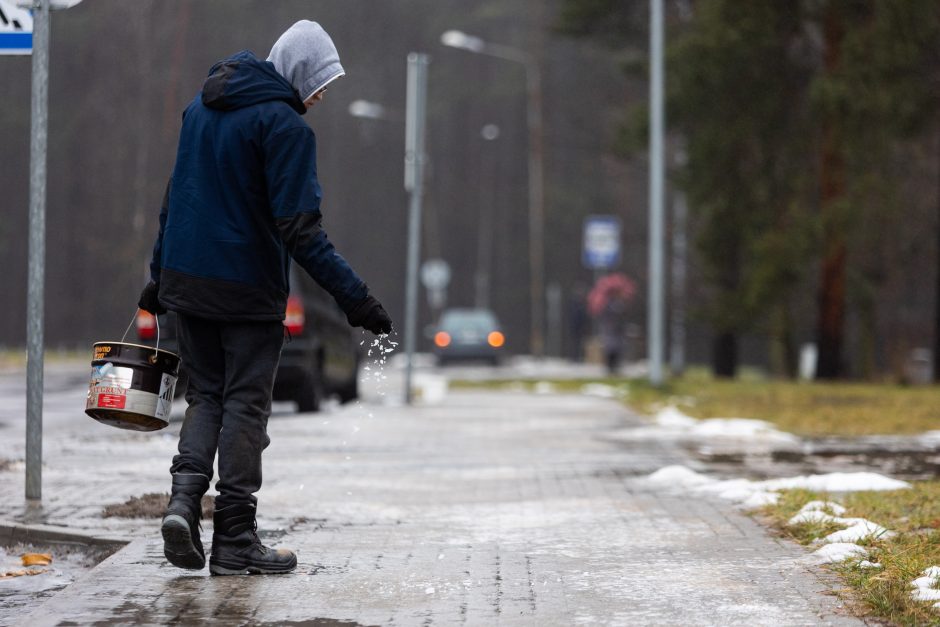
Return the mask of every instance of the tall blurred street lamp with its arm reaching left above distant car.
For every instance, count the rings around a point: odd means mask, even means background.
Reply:
[[[535,56],[517,48],[494,44],[458,30],[441,35],[441,43],[476,54],[484,54],[519,63],[526,74],[526,122],[529,131],[529,280],[532,354],[542,356],[545,348],[545,196],[542,163],[542,89],[539,65]]]

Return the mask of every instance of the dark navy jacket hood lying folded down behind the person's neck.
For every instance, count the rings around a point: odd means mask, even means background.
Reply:
[[[300,95],[274,65],[248,50],[213,65],[202,87],[202,104],[211,109],[230,111],[271,100],[283,100],[301,115],[307,112]]]

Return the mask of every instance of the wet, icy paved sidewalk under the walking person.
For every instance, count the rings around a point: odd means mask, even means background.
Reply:
[[[612,401],[515,393],[276,415],[259,525],[299,566],[213,578],[164,562],[158,521],[100,518],[168,490],[178,424],[134,434],[72,411],[47,430],[42,508],[22,506],[20,466],[0,474],[9,517],[133,542],[16,624],[862,624],[797,561],[802,548],[646,483],[695,464],[670,444],[604,437],[638,424]],[[11,433],[0,458],[16,453]]]

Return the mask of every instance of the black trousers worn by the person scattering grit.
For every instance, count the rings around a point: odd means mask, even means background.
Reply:
[[[177,320],[189,407],[170,472],[211,480],[218,451],[216,508],[257,504],[284,327],[279,321],[220,322],[184,314]]]

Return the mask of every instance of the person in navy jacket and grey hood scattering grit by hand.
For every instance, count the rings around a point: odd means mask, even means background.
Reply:
[[[174,566],[205,567],[201,500],[216,453],[210,572],[286,573],[297,565],[293,552],[260,542],[255,517],[291,259],[350,325],[391,331],[388,313],[323,230],[316,138],[301,117],[344,74],[330,36],[302,20],[267,60],[246,50],[213,65],[183,113],[138,303],[153,314],[177,313],[189,375],[161,525]]]

